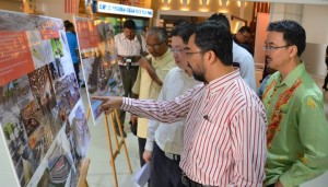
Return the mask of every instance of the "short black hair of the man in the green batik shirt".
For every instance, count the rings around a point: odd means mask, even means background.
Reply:
[[[286,45],[295,45],[297,47],[298,57],[305,50],[306,33],[297,22],[292,20],[271,22],[267,31],[282,33]]]

